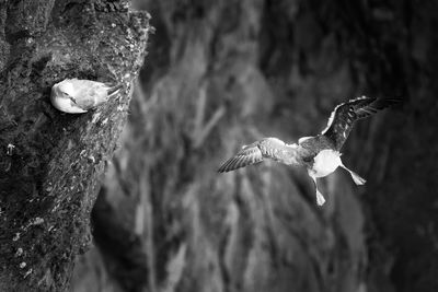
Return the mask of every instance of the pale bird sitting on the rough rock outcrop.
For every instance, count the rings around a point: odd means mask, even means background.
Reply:
[[[65,79],[51,87],[51,104],[68,114],[82,114],[114,96],[123,87],[122,84],[110,86],[105,83]]]

